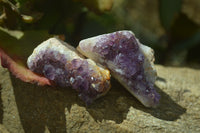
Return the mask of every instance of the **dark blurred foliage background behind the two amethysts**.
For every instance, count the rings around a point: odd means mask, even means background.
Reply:
[[[23,63],[57,35],[82,39],[131,30],[156,63],[200,68],[199,0],[0,0],[0,48]]]

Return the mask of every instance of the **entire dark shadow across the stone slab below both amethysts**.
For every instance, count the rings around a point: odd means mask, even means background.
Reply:
[[[50,132],[64,133],[66,132],[65,108],[70,111],[73,104],[85,107],[78,94],[70,88],[41,87],[21,82],[14,77],[12,83],[25,132],[44,132],[47,126]],[[186,111],[159,88],[157,91],[162,97],[160,105],[152,109],[144,107],[116,80],[112,80],[112,85],[106,96],[86,107],[96,121],[105,119],[121,123],[126,119],[131,106],[168,121],[178,119]]]

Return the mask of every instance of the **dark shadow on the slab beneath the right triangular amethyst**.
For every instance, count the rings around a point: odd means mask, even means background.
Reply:
[[[165,81],[163,78],[159,78],[158,80]],[[102,103],[102,99],[99,99],[95,102],[95,104],[92,104],[88,108],[89,112],[90,109],[96,109],[96,111],[90,112],[90,114],[97,120],[101,121],[103,119],[107,119],[114,120],[116,123],[121,123],[126,118],[131,106],[133,108],[150,113],[156,118],[167,121],[177,120],[183,113],[186,112],[185,108],[175,103],[169,95],[167,95],[158,87],[156,87],[156,90],[161,95],[161,100],[159,106],[154,109],[144,107],[116,80],[112,80],[112,85],[111,91],[109,91],[108,94],[102,98],[109,102]],[[98,112],[101,112],[100,114],[102,114],[103,117],[97,115]]]

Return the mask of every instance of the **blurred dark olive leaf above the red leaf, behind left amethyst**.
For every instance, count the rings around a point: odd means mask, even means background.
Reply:
[[[50,37],[48,31],[24,31],[20,39],[10,36],[0,30],[0,48],[5,50],[11,57],[26,58],[33,52],[33,49]]]

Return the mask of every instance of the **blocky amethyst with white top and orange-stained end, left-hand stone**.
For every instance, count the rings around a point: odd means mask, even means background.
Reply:
[[[65,42],[51,38],[34,49],[27,61],[35,73],[61,87],[72,86],[90,104],[110,89],[110,73],[90,59],[83,59]]]

